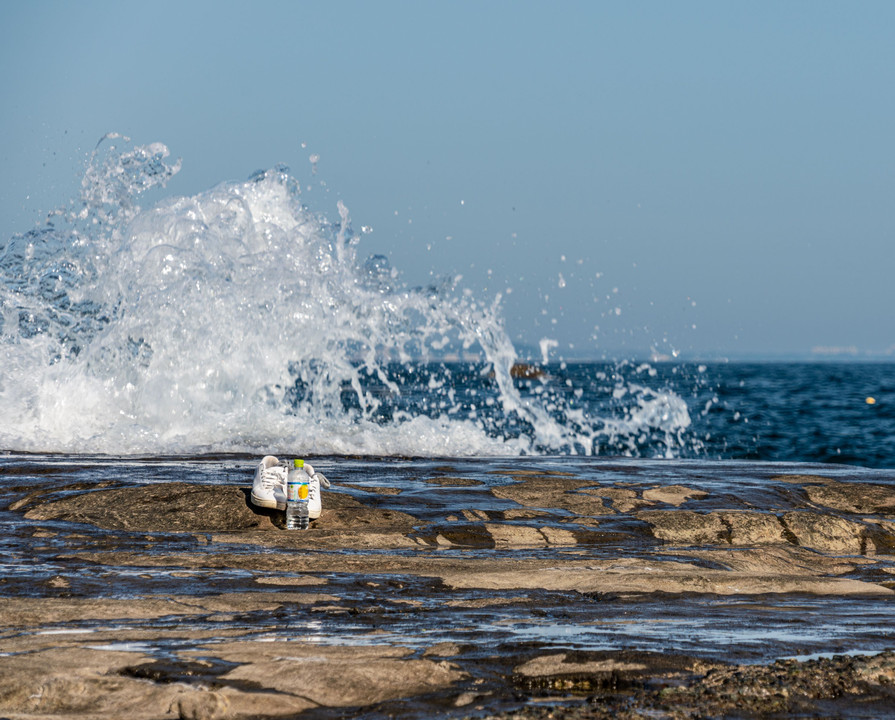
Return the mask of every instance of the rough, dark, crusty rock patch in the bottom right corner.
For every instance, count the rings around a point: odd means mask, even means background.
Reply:
[[[586,692],[579,703],[489,714],[492,720],[551,718],[886,718],[895,714],[895,654],[834,656],[769,665],[672,664],[627,654],[598,661],[547,658],[544,677],[559,693]],[[563,674],[566,666],[571,672]],[[588,668],[580,673],[575,668]],[[548,684],[548,687],[550,686]],[[481,717],[481,716],[479,716]]]

